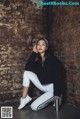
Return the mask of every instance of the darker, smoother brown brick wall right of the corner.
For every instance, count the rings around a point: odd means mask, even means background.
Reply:
[[[80,107],[80,7],[55,6],[48,10],[52,49],[66,70],[67,100]]]

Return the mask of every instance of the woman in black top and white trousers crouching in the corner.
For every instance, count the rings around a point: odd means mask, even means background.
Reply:
[[[54,55],[48,52],[48,41],[41,38],[33,47],[33,52],[25,66],[23,75],[23,93],[18,109],[22,109],[32,98],[28,95],[30,81],[42,92],[32,104],[32,110],[44,108],[53,101],[54,97],[59,98],[62,91],[62,68],[61,62]]]

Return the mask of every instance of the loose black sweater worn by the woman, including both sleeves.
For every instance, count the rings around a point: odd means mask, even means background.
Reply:
[[[32,52],[27,61],[25,70],[37,74],[41,84],[54,84],[54,96],[60,96],[63,86],[62,64],[54,55],[48,55],[44,63],[41,59],[36,59],[37,53]]]

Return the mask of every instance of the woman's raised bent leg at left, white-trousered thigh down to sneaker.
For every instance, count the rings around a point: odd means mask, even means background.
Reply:
[[[23,74],[23,92],[22,98],[20,99],[20,105],[18,109],[22,109],[27,103],[29,103],[32,99],[28,96],[28,89],[30,85],[30,81],[41,91],[46,92],[44,86],[41,85],[38,77],[35,73],[31,71],[25,71]]]

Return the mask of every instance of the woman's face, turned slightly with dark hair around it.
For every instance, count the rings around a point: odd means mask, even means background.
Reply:
[[[37,43],[37,51],[39,53],[45,53],[45,51],[47,50],[47,46],[46,46],[46,42],[44,40],[39,40]]]

